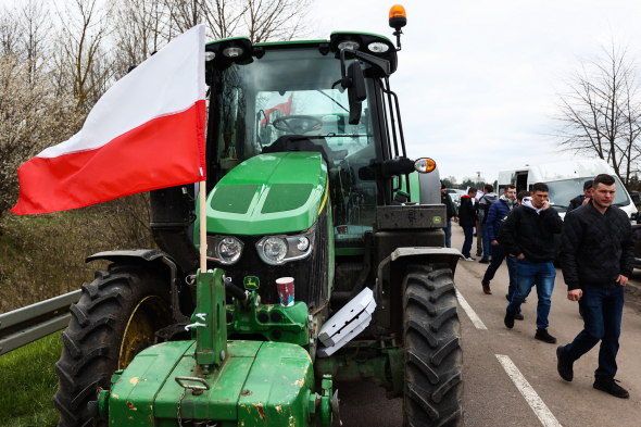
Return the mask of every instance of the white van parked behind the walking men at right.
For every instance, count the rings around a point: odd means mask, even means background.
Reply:
[[[602,159],[573,160],[558,163],[545,163],[536,166],[526,165],[515,169],[499,172],[499,193],[505,186],[514,184],[516,192],[532,190],[535,183],[545,183],[550,188],[550,205],[558,211],[563,218],[569,201],[583,193],[583,183],[599,174],[608,174],[616,181],[616,197],[613,204],[623,209],[630,219],[637,221],[637,206],[641,204],[639,193],[632,197],[626,190],[614,169]]]

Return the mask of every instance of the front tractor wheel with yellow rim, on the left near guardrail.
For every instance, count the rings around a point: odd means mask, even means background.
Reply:
[[[93,426],[87,402],[99,387],[109,389],[111,375],[124,369],[151,346],[154,332],[172,322],[167,280],[141,266],[111,264],[96,272],[91,284],[71,307],[55,364],[58,392],[53,404],[59,427]],[[97,426],[106,426],[100,422]]]

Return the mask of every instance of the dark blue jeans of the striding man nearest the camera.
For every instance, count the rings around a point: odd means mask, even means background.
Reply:
[[[571,362],[589,352],[599,341],[599,368],[594,376],[614,378],[616,375],[616,354],[619,350],[621,315],[624,313],[624,287],[603,290],[586,286],[579,300],[583,312],[583,330],[575,340],[565,346],[565,354]]]

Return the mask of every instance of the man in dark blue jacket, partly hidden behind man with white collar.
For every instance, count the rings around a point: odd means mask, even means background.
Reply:
[[[516,187],[511,184],[507,187],[505,187],[505,189],[503,190],[503,196],[501,196],[499,201],[492,203],[490,205],[490,209],[488,210],[486,230],[488,231],[488,239],[490,241],[490,244],[492,244],[492,262],[488,266],[486,275],[481,280],[483,292],[487,294],[492,293],[490,289],[490,280],[494,278],[497,269],[499,269],[501,264],[503,264],[503,259],[505,258],[503,247],[497,240],[497,237],[499,236],[499,227],[501,227],[501,221],[503,221],[505,214],[507,214],[507,212],[512,211],[512,208],[514,208],[515,199]],[[512,278],[512,275],[510,276]],[[520,314],[518,316],[520,316]],[[523,316],[520,316],[519,319],[523,319]]]

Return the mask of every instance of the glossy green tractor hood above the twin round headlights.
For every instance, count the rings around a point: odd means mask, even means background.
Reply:
[[[320,153],[256,155],[236,166],[209,194],[208,233],[256,236],[305,230],[318,218],[326,188],[327,166]]]

